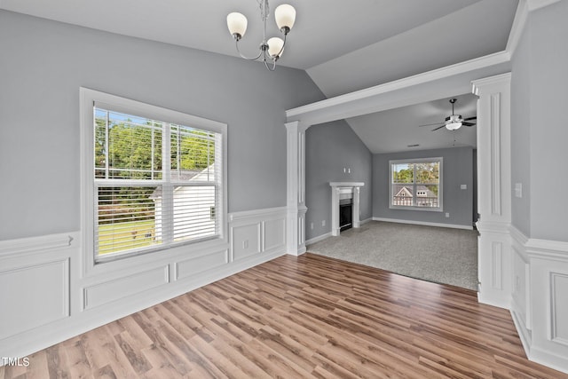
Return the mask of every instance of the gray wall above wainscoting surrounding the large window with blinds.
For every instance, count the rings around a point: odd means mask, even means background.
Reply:
[[[219,41],[219,43],[230,43]],[[0,240],[79,229],[79,87],[228,124],[229,211],[286,205],[304,71],[0,11]]]

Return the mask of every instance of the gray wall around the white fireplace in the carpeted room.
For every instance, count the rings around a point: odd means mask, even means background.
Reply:
[[[306,240],[331,232],[329,182],[363,182],[360,219],[372,217],[372,154],[347,122],[314,125],[305,137]],[[351,169],[351,173],[343,172]],[[325,220],[326,225],[321,222]],[[312,229],[313,224],[313,229]]]

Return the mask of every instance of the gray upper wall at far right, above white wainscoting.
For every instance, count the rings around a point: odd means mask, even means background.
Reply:
[[[526,236],[568,241],[568,2],[531,12],[513,57],[511,78],[512,224]]]

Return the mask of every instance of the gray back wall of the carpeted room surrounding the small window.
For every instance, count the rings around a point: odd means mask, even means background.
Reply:
[[[443,212],[389,208],[390,160],[444,158]],[[460,185],[467,185],[461,190]],[[450,217],[446,217],[446,212]],[[473,214],[473,149],[455,147],[373,155],[373,217],[471,226]]]

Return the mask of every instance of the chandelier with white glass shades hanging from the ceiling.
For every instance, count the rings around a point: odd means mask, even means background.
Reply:
[[[242,58],[248,60],[262,59],[264,66],[270,71],[274,71],[276,68],[276,61],[282,56],[282,52],[284,51],[286,36],[288,36],[290,29],[294,26],[294,21],[296,20],[296,9],[294,9],[292,5],[288,4],[281,4],[276,8],[274,11],[274,19],[276,20],[276,25],[280,28],[280,32],[284,35],[284,39],[282,40],[279,37],[272,37],[269,40],[266,40],[266,20],[270,14],[268,0],[257,1],[260,7],[260,16],[264,22],[264,29],[263,41],[259,46],[260,52],[256,55],[256,57],[247,57],[243,55],[239,49],[239,41],[241,41],[241,38],[247,31],[247,18],[239,12],[229,13],[227,15],[227,27],[229,28],[229,33],[231,33],[235,40],[235,46]]]

